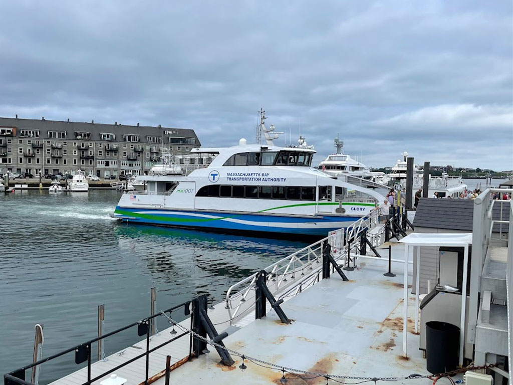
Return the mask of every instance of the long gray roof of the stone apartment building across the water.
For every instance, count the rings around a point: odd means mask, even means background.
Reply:
[[[163,136],[164,131],[170,131],[167,137],[194,138],[196,145],[200,145],[200,141],[194,130],[186,128],[173,127],[153,127],[153,126],[126,126],[119,123],[103,124],[103,123],[87,123],[87,122],[67,122],[43,119],[18,119],[18,118],[0,118],[0,127],[16,127],[16,137],[19,137],[19,130],[39,130],[40,139],[48,139],[47,131],[67,131],[66,140],[74,139],[74,132],[90,132],[91,140],[100,140],[100,132],[114,133],[116,139],[121,140],[123,134],[140,135],[141,142],[146,142],[145,136]],[[167,142],[167,140],[166,140]]]

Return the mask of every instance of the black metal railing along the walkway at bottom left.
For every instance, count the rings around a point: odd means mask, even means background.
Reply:
[[[32,368],[35,368],[37,367],[37,365],[41,365],[45,362],[49,362],[51,360],[54,360],[58,357],[61,357],[61,356],[64,356],[68,353],[71,353],[71,352],[74,352],[75,353],[75,363],[76,364],[81,364],[83,362],[86,362],[87,361],[87,381],[83,383],[83,385],[90,385],[92,382],[94,381],[97,381],[105,376],[108,376],[109,374],[115,372],[116,370],[119,370],[123,367],[125,367],[126,365],[138,360],[138,359],[141,359],[141,358],[146,358],[146,373],[145,373],[145,383],[148,384],[148,378],[149,378],[149,373],[148,373],[148,370],[149,370],[149,356],[150,356],[150,353],[158,350],[158,349],[161,349],[163,348],[165,345],[179,339],[179,338],[182,338],[182,337],[185,337],[186,335],[190,335],[190,333],[188,331],[184,331],[183,333],[171,333],[171,336],[172,338],[170,338],[169,340],[157,345],[156,347],[153,347],[150,349],[150,337],[151,337],[151,328],[150,328],[150,321],[152,321],[153,319],[157,318],[157,317],[165,317],[165,313],[169,313],[171,315],[172,312],[176,311],[176,310],[179,310],[181,308],[184,309],[184,315],[185,316],[188,316],[191,314],[191,310],[190,310],[190,304],[192,302],[192,306],[194,308],[194,304],[195,304],[195,300],[192,300],[192,301],[187,301],[187,302],[184,302],[184,303],[181,303],[179,305],[176,305],[176,306],[173,306],[173,307],[170,307],[169,309],[163,311],[163,312],[159,312],[155,315],[152,315],[150,317],[147,317],[145,319],[142,319],[140,321],[137,321],[137,322],[133,322],[129,325],[126,325],[126,326],[123,326],[123,328],[120,328],[120,329],[117,329],[113,332],[110,332],[110,333],[107,333],[107,334],[104,334],[100,337],[97,337],[97,338],[94,338],[94,339],[91,339],[87,342],[84,342],[84,343],[81,343],[80,345],[76,345],[74,346],[73,348],[70,348],[70,349],[67,349],[65,351],[62,351],[60,353],[56,353],[50,357],[47,357],[47,358],[43,358],[37,362],[34,362],[30,365],[26,365],[25,367],[23,368],[20,368],[20,369],[16,369],[12,372],[9,372],[7,374],[4,375],[4,385],[35,385],[34,383],[30,382],[30,381],[27,381],[25,378],[26,378],[26,371],[29,370],[29,369],[32,369]],[[193,309],[194,310],[194,309]],[[164,314],[163,314],[164,313]],[[167,318],[167,317],[166,317]],[[192,318],[193,316],[191,315],[191,330],[193,330],[193,323],[192,323]],[[154,321],[152,321],[154,322]],[[101,373],[100,375],[97,375],[95,377],[92,377],[91,376],[91,365],[92,365],[92,362],[91,362],[91,359],[92,359],[92,344],[94,343],[97,343],[98,341],[100,340],[103,340],[107,337],[111,337],[113,335],[116,335],[116,334],[119,334],[125,330],[128,330],[130,328],[133,328],[134,326],[137,326],[137,335],[138,336],[144,336],[146,335],[146,349],[145,349],[145,352],[137,355],[136,357],[133,357],[129,360],[127,360],[126,362],[123,362],[119,365],[117,365],[115,368],[112,368],[112,369],[109,369],[103,373]],[[183,362],[186,362],[187,360],[190,360],[193,356],[197,356],[199,354],[202,354],[201,352],[194,352],[193,349],[192,349],[192,337],[189,338],[189,355],[188,357],[184,357],[183,359]],[[163,368],[164,369],[164,368]],[[30,376],[30,375],[29,375]],[[30,377],[29,377],[30,378]]]

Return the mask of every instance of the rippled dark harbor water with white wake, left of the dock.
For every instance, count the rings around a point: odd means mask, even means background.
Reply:
[[[152,286],[157,309],[204,293],[219,302],[231,284],[307,245],[127,225],[110,218],[119,198],[112,190],[0,195],[0,373],[31,362],[36,323],[48,357],[96,336],[100,304],[108,333],[149,315]],[[140,339],[122,333],[105,341],[105,353]],[[77,366],[73,354],[43,364],[40,383]]]

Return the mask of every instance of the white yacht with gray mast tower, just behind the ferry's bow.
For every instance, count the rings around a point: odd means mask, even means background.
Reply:
[[[328,157],[319,164],[318,168],[320,170],[332,177],[344,174],[362,179],[372,179],[372,172],[370,172],[363,163],[344,153],[344,142],[339,139],[339,136],[335,138],[335,147],[337,148],[337,152],[328,155]]]

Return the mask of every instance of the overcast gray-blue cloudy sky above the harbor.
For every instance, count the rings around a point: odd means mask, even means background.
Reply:
[[[0,3],[0,115],[301,132],[316,162],[513,169],[509,0]],[[289,135],[286,140],[288,142]],[[285,138],[278,141],[285,144]]]

